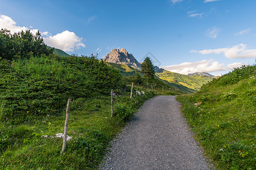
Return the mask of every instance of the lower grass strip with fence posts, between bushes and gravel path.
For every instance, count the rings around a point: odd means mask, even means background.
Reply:
[[[123,92],[122,96],[114,97],[113,118],[110,96],[73,100],[68,124],[72,140],[63,155],[60,154],[63,139],[52,137],[64,131],[65,109],[40,117],[31,114],[18,126],[2,120],[1,169],[97,169],[109,142],[143,102],[154,96],[146,92],[130,99],[129,94]]]

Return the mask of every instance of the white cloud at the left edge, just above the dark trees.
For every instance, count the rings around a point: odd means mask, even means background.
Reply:
[[[0,15],[0,29],[1,28],[6,28],[8,30],[11,31],[11,33],[15,33],[15,32],[20,32],[20,31],[26,31],[27,29],[32,28],[32,26],[30,26],[30,28],[27,27],[20,27],[18,25],[16,25],[16,22],[11,19],[9,16],[6,15]],[[38,29],[30,29],[30,31],[35,34],[36,32],[38,32]]]

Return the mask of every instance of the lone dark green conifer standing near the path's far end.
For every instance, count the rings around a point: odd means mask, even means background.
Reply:
[[[154,66],[149,57],[146,57],[141,64],[141,73],[146,77],[153,79],[155,75]]]

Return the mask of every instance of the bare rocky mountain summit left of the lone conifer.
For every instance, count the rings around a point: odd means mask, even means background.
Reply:
[[[133,66],[135,69],[141,67],[141,64],[133,57],[133,54],[129,54],[124,48],[112,49],[103,60],[110,63],[122,63],[128,66]]]

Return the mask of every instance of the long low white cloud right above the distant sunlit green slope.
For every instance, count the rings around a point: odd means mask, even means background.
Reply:
[[[202,60],[196,62],[184,62],[179,65],[171,65],[162,67],[165,70],[172,71],[180,74],[189,74],[195,72],[206,72],[212,73],[215,71],[226,71],[232,70],[234,67],[241,67],[243,63],[232,63],[228,66],[224,66],[224,63],[220,64],[217,61],[213,61],[213,59]]]

